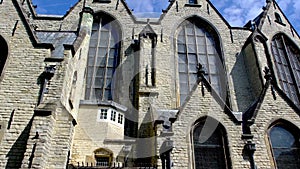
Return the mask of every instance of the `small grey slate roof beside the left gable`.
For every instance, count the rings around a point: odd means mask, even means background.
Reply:
[[[51,43],[54,50],[51,52],[51,57],[60,58],[64,57],[64,45],[72,45],[76,40],[75,32],[35,32],[38,41],[41,43]]]

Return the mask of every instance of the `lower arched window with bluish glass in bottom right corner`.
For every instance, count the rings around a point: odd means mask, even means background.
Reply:
[[[276,168],[300,168],[299,131],[291,125],[276,124],[268,134]]]

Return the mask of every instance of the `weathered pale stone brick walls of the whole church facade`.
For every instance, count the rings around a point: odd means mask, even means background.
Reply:
[[[162,168],[162,159],[157,157],[167,138],[174,141],[172,168],[195,168],[198,159],[192,132],[204,117],[214,118],[226,131],[229,168],[251,167],[243,153],[247,141],[256,145],[257,168],[274,168],[270,127],[280,119],[300,127],[299,109],[292,108],[280,87],[275,91],[276,100],[271,87],[265,88],[265,67],[275,69],[272,38],[281,32],[298,48],[300,45],[299,35],[278,5],[268,1],[254,30],[231,27],[209,1],[198,0],[196,6],[186,5],[186,0],[172,2],[159,20],[137,19],[125,1],[118,2],[116,9],[117,1],[87,0],[83,9],[84,2],[79,1],[62,18],[36,15],[30,1],[0,4],[0,36],[9,48],[0,77],[0,168],[95,165],[96,158],[104,155],[97,155],[100,150],[108,153],[112,163],[126,162],[129,167],[152,163]],[[115,19],[122,35],[113,101],[85,100],[92,24],[100,12]],[[281,15],[284,24],[275,22],[275,13]],[[191,17],[211,25],[219,38],[228,96],[220,100],[199,83],[180,106],[177,36],[182,22]],[[42,44],[35,30],[75,32],[77,38],[73,45],[61,44],[63,58],[53,58],[53,45]],[[49,66],[55,68],[51,77],[45,73]],[[278,76],[276,70],[271,72]],[[278,78],[272,81],[276,84]],[[245,133],[240,116],[249,113],[260,98],[249,128],[253,138],[242,139]],[[115,121],[100,120],[101,109],[122,113],[127,120],[122,124],[118,117]],[[159,121],[155,113],[161,110],[178,113],[169,121]],[[171,125],[172,131],[166,131],[166,125]]]

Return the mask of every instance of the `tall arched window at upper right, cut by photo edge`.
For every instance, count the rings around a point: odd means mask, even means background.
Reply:
[[[280,87],[300,107],[300,51],[282,34],[273,38],[271,47]]]

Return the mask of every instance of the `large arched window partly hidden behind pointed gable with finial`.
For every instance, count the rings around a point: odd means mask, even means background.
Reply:
[[[208,23],[202,23],[199,19],[184,21],[177,36],[177,53],[180,104],[196,84],[198,63],[204,67],[206,79],[214,91],[220,97],[225,95],[225,71],[220,57],[220,42]]]

